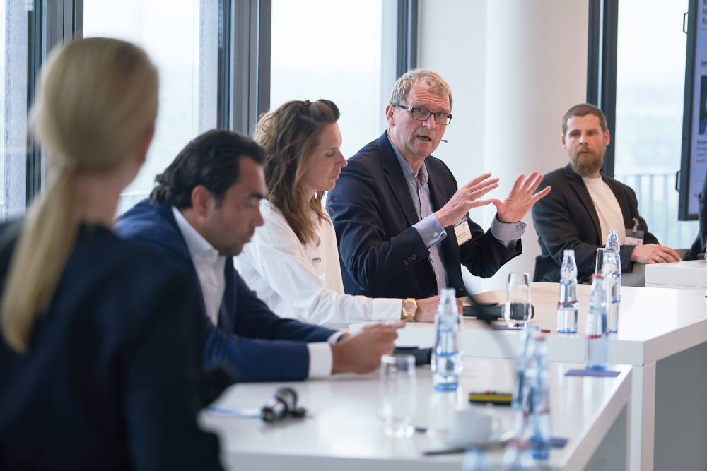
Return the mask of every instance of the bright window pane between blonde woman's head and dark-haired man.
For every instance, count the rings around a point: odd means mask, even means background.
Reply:
[[[216,127],[218,15],[218,0],[83,0],[83,37],[134,42],[160,71],[155,137],[118,214],[149,195],[156,174],[192,138]]]

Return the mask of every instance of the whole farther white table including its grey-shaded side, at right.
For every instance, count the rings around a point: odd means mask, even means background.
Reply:
[[[533,282],[532,323],[551,329],[548,358],[584,362],[590,285],[579,285],[579,334],[556,333],[556,283]],[[479,295],[503,303],[504,291]],[[356,332],[365,323],[354,324]],[[464,354],[515,358],[520,332],[490,330],[465,319]],[[434,326],[409,323],[397,345],[431,347]],[[621,287],[619,332],[609,336],[609,363],[633,365],[631,470],[707,469],[707,299],[704,290]]]

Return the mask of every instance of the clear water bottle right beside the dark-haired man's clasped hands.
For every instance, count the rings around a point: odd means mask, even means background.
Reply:
[[[451,288],[442,290],[440,304],[435,316],[434,357],[432,359],[432,382],[436,390],[457,390],[462,371],[462,354],[459,347],[461,317]]]

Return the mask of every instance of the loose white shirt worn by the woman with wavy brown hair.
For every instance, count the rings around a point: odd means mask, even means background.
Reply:
[[[279,316],[341,327],[359,321],[400,319],[400,299],[344,294],[337,234],[329,215],[322,222],[312,211],[315,238],[302,244],[285,217],[262,200],[265,224],[233,258],[235,268],[258,297]]]

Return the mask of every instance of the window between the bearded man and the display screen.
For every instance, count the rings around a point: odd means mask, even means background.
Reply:
[[[697,222],[677,220],[687,0],[619,2],[614,174],[631,186],[661,244],[689,248]]]

